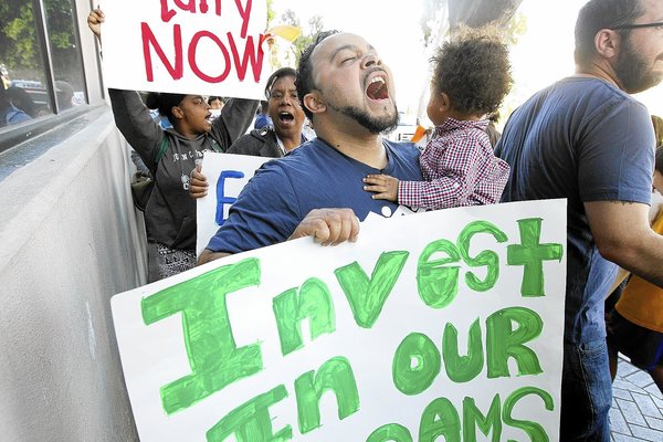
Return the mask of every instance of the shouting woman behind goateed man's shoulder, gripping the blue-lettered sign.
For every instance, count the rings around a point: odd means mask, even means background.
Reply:
[[[297,99],[296,75],[292,67],[282,67],[270,75],[265,97],[273,126],[253,129],[242,135],[230,146],[228,154],[281,158],[306,141],[302,135],[304,110]],[[192,198],[202,198],[207,196],[208,187],[207,177],[200,172],[199,166],[191,173],[189,193]]]

